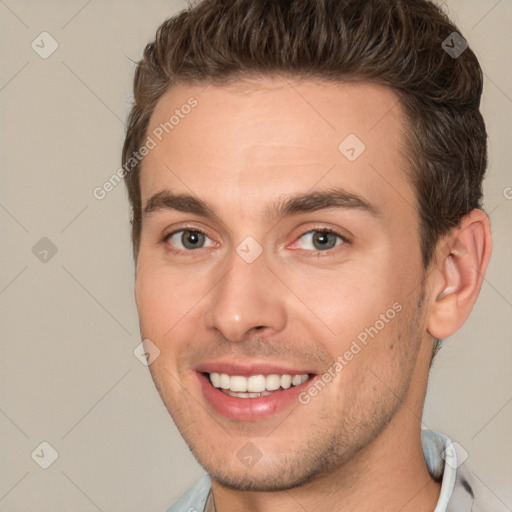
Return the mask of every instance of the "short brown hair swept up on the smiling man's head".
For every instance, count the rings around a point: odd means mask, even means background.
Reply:
[[[453,32],[465,43],[428,0],[203,0],[166,20],[137,65],[123,147],[135,258],[140,163],[130,159],[160,97],[177,83],[282,74],[372,82],[398,94],[426,268],[439,238],[481,207],[487,166],[482,70],[470,48],[445,51]]]

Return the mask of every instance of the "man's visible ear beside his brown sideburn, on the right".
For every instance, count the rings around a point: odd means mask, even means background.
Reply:
[[[480,293],[492,252],[487,214],[476,209],[465,215],[436,252],[427,330],[443,339],[464,324]]]

